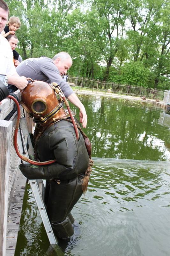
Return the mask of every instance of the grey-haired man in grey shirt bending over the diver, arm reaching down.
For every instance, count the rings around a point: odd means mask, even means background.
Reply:
[[[40,80],[47,83],[55,82],[62,89],[64,95],[71,103],[80,109],[80,122],[85,128],[87,125],[87,115],[84,105],[73,92],[70,85],[67,84],[62,76],[72,65],[72,59],[67,52],[57,53],[53,59],[48,57],[29,58],[21,62],[16,68],[19,76],[30,77],[33,80]]]

